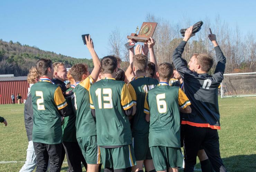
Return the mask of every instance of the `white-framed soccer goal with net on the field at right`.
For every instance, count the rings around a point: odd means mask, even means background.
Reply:
[[[220,85],[221,98],[256,96],[256,72],[224,74]]]

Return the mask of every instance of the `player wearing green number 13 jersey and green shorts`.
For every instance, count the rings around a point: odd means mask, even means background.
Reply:
[[[90,88],[92,114],[97,121],[98,146],[104,171],[124,172],[136,164],[128,119],[128,116],[134,115],[136,107],[133,106],[127,85],[114,78],[117,72],[116,57],[103,57],[101,67],[101,80]]]

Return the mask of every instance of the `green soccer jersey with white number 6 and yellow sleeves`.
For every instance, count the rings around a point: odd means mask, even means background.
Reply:
[[[166,146],[180,148],[180,108],[190,101],[177,86],[160,83],[148,91],[144,112],[150,113],[149,147]]]

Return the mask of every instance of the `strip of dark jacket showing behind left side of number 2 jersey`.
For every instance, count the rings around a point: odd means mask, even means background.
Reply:
[[[32,130],[33,130],[33,107],[32,107],[31,94],[28,95],[28,98],[25,102],[24,120],[25,120],[25,128],[27,131],[28,141],[31,141],[32,140]]]

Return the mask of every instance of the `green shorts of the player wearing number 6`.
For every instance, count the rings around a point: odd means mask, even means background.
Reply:
[[[156,171],[164,171],[169,168],[182,167],[183,155],[181,148],[153,146],[150,147]]]

